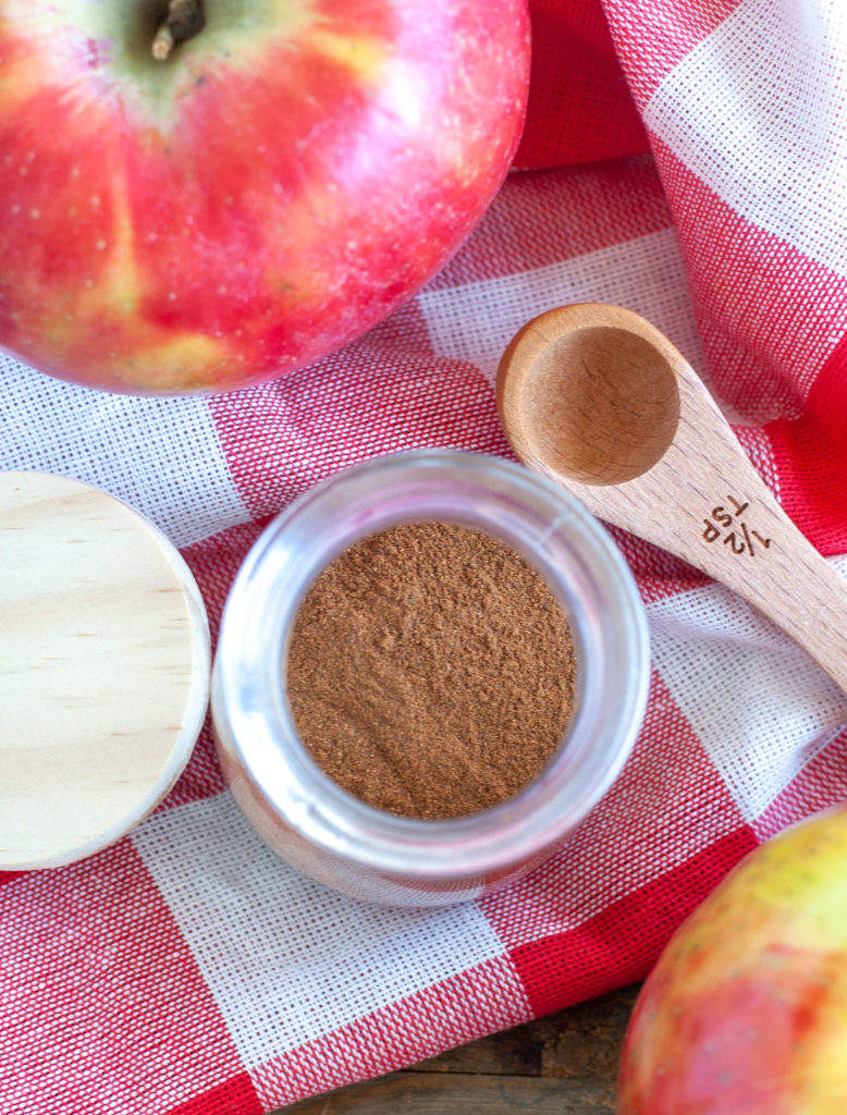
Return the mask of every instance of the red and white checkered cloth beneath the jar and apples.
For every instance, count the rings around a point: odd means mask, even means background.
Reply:
[[[603,6],[535,0],[534,169],[393,318],[213,398],[100,395],[2,359],[0,466],[147,514],[214,626],[263,517],[321,477],[398,449],[507,455],[505,343],[545,309],[610,301],[703,372],[847,573],[847,8]],[[206,734],[118,845],[0,878],[3,1115],[255,1115],[600,993],[643,976],[759,841],[845,798],[847,698],[730,592],[615,536],[649,613],[650,704],[552,861],[452,909],[360,905],[264,849]]]

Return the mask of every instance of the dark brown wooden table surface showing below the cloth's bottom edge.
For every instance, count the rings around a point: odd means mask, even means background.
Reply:
[[[292,1104],[285,1115],[613,1115],[637,986]]]

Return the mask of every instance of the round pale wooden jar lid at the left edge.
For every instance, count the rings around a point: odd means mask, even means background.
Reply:
[[[114,496],[0,473],[0,870],[72,863],[167,794],[208,700],[187,565]]]

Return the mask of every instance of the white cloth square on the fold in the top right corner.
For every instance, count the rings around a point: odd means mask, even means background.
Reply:
[[[742,0],[660,84],[648,127],[732,210],[847,274],[844,0]]]

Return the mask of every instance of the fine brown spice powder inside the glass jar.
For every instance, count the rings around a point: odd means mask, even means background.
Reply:
[[[487,534],[408,523],[350,546],[298,614],[288,686],[315,763],[427,820],[506,801],[573,712],[574,643],[544,579]]]

